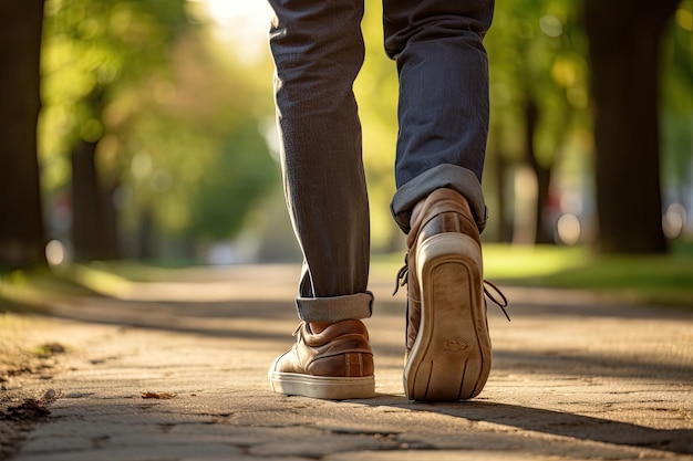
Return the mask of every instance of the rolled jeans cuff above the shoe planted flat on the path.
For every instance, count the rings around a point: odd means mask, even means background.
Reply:
[[[303,322],[335,323],[369,318],[373,313],[373,293],[355,293],[330,297],[297,297],[296,307]]]

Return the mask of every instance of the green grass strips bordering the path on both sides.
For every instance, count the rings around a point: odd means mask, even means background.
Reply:
[[[375,280],[391,280],[403,254],[373,258]],[[598,256],[587,248],[486,243],[486,279],[513,286],[589,290],[610,298],[693,310],[693,243],[668,255]],[[55,295],[123,294],[130,282],[185,279],[185,266],[139,262],[72,264],[53,273],[14,272],[0,277],[0,311],[11,305],[41,306]],[[13,310],[13,308],[9,308]]]

